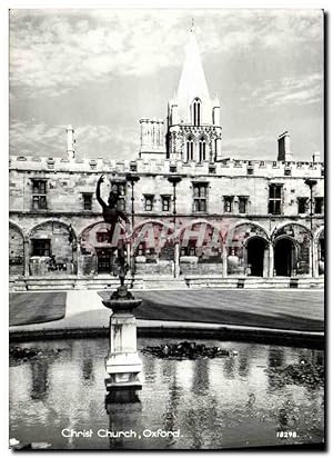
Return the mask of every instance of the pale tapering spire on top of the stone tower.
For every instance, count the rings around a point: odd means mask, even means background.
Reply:
[[[211,113],[211,107],[209,107],[211,104],[209,89],[196,43],[194,19],[192,19],[192,27],[185,48],[185,60],[176,92],[179,114],[184,122],[191,121],[190,106],[195,97],[200,98],[203,108],[206,108],[208,112]]]

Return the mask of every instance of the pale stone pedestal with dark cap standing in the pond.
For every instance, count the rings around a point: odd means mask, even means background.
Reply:
[[[124,288],[124,287],[120,287]],[[104,300],[103,305],[112,309],[110,317],[109,355],[105,369],[108,390],[141,389],[138,375],[142,371],[142,362],[137,351],[137,322],[132,310],[139,307],[141,299],[134,299],[125,289],[127,297]]]

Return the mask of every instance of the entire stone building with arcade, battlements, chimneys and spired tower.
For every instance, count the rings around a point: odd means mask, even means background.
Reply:
[[[19,278],[109,275],[114,250],[95,199],[115,182],[132,222],[119,227],[140,276],[320,277],[324,272],[324,166],[294,161],[290,135],[276,160],[223,157],[220,103],[210,98],[194,31],[167,122],[141,119],[132,161],[10,157],[9,270]],[[102,192],[108,199],[110,182]],[[115,247],[118,239],[114,240]]]

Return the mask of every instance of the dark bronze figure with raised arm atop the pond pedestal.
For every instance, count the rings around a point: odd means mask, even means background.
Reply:
[[[119,188],[117,183],[111,182],[111,191],[109,195],[108,203],[103,201],[101,198],[101,183],[104,181],[104,176],[102,175],[97,183],[95,197],[98,202],[103,209],[103,219],[105,222],[110,225],[110,229],[108,230],[108,242],[111,245],[115,226],[118,223],[124,222],[127,226],[130,225],[130,220],[127,215],[118,209],[118,202],[120,198]],[[125,260],[125,250],[124,250],[124,241],[121,239],[118,241],[117,247],[111,247],[112,251],[114,252],[118,249],[118,262],[119,262],[119,279],[120,285],[124,286],[125,275],[129,270],[129,266]]]

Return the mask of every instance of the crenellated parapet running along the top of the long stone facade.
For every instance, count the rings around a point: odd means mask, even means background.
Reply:
[[[324,177],[323,162],[221,159],[216,162],[183,162],[171,159],[135,160],[64,159],[32,156],[11,156],[10,170],[54,171],[78,173],[148,173],[148,175],[212,175],[230,177]]]

